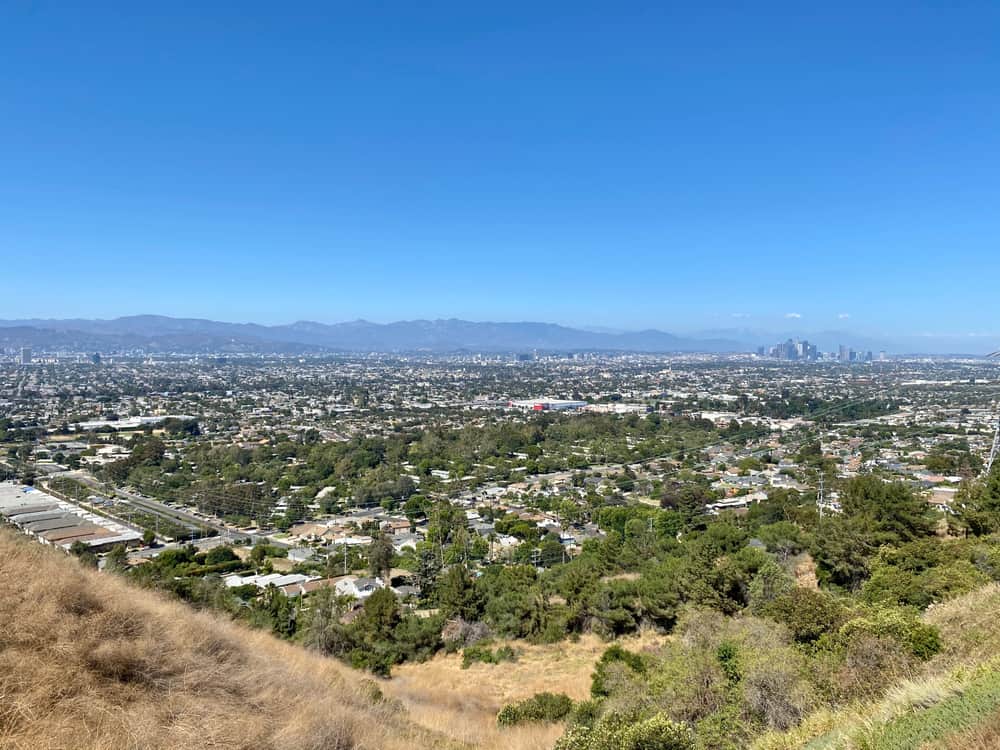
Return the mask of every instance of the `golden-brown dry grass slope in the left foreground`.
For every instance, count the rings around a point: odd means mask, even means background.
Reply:
[[[0,530],[0,748],[451,747],[362,675]]]

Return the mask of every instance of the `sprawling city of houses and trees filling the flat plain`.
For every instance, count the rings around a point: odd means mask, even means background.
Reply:
[[[795,365],[22,350],[0,370],[0,460],[23,485],[8,487],[3,513],[47,543],[125,543],[137,560],[191,541],[291,549],[312,561],[300,583],[323,580],[342,547],[367,549],[381,530],[396,554],[440,548],[442,504],[464,516],[452,531],[480,563],[543,566],[603,538],[605,507],[745,513],[794,491],[836,512],[836,482],[870,472],[954,515],[961,483],[990,458],[997,365],[813,364],[799,348]],[[417,581],[403,578],[419,603]]]

